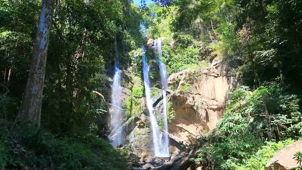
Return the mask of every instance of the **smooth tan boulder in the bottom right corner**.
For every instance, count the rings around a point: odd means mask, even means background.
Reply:
[[[302,150],[302,140],[298,140],[280,150],[265,166],[267,170],[289,170],[299,167],[294,158],[297,151]]]

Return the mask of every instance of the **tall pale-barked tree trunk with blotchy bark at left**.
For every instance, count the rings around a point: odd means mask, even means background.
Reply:
[[[24,101],[16,122],[26,126],[40,126],[49,32],[55,0],[43,0],[37,28],[34,53],[29,70]]]

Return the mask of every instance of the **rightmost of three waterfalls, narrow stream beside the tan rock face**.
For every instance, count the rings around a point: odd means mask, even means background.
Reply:
[[[167,96],[166,91],[168,89],[168,71],[164,63],[161,61],[162,58],[162,41],[161,38],[156,39],[156,50],[159,57],[156,57],[156,60],[159,64],[160,74],[161,74],[161,83],[163,86],[163,123],[164,123],[164,140],[163,140],[163,152],[165,155],[169,155],[169,138],[168,138],[168,119],[167,119]]]

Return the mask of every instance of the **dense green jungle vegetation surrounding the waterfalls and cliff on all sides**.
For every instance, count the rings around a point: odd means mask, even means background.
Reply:
[[[141,45],[163,37],[169,73],[219,59],[238,69],[241,86],[191,161],[264,169],[302,137],[301,11],[299,0],[0,0],[0,168],[130,168],[103,136],[115,42],[122,69],[140,77]]]

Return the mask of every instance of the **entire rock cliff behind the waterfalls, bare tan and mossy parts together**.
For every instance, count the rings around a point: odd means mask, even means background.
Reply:
[[[234,68],[219,61],[208,68],[186,69],[169,76],[168,126],[169,151],[172,155],[177,155],[183,150],[181,145],[187,146],[195,142],[204,131],[215,128],[221,120],[228,93],[236,87],[233,71]],[[162,91],[159,88],[154,87],[152,90],[153,107],[158,122],[162,119],[163,108]],[[133,94],[127,92],[127,96],[131,95]],[[127,134],[124,144],[131,147],[139,156],[152,155],[152,132],[149,128],[145,100],[133,97],[132,101],[132,112],[135,113],[126,114],[128,117],[132,116],[124,124]],[[140,104],[137,105],[138,103]]]

